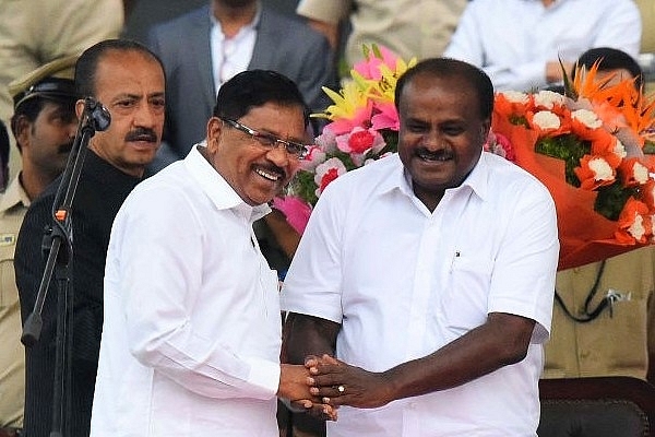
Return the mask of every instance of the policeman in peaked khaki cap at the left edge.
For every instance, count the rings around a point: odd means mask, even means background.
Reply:
[[[57,59],[9,85],[11,130],[22,170],[0,196],[0,437],[15,436],[23,425],[25,352],[13,267],[16,237],[31,201],[63,170],[75,137],[75,60]]]

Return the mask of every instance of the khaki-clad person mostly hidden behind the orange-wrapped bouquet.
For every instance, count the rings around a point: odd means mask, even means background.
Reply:
[[[597,80],[633,80],[642,70],[624,51],[595,47],[580,56]],[[565,220],[565,217],[563,217]],[[557,273],[545,378],[630,376],[655,382],[655,247]]]

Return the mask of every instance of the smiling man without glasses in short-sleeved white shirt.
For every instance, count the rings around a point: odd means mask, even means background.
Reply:
[[[343,405],[329,436],[536,436],[555,203],[483,152],[483,71],[430,59],[395,93],[398,154],[331,182],[302,235],[282,292],[286,356],[322,357],[311,392]]]

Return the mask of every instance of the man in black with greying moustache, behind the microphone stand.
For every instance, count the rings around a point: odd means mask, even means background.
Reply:
[[[90,140],[72,204],[73,290],[70,413],[67,437],[86,437],[103,328],[103,276],[111,223],[159,146],[164,127],[165,75],[144,46],[108,39],[86,49],[75,64],[80,97],[108,108],[111,123]],[[80,117],[84,99],[76,102]],[[15,271],[23,320],[34,308],[45,267],[44,227],[51,223],[59,179],[29,208],[16,247]],[[47,437],[52,428],[58,290],[50,284],[40,339],[26,353],[25,433]],[[129,401],[129,400],[126,400]],[[58,408],[59,405],[55,405]]]

